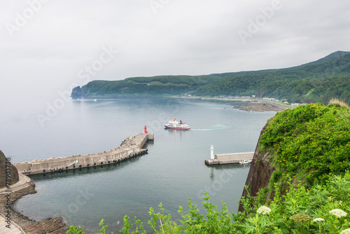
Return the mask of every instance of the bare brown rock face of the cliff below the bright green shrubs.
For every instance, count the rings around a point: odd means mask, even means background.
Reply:
[[[246,195],[255,196],[256,193],[258,193],[259,188],[265,188],[269,185],[269,180],[272,176],[272,172],[275,170],[274,167],[272,167],[271,163],[269,162],[269,157],[271,156],[271,153],[265,153],[259,152],[259,142],[262,134],[265,132],[265,129],[267,128],[267,124],[262,128],[258,140],[258,144],[255,148],[255,153],[253,156],[253,160],[251,162],[251,168],[248,172],[248,177],[246,178],[246,184],[245,188],[248,188],[248,191],[246,189],[243,190],[242,197],[246,197]],[[243,206],[239,204],[239,212],[244,212]]]

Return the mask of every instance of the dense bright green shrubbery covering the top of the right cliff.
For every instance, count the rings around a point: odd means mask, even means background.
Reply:
[[[323,184],[350,166],[349,108],[309,104],[277,113],[260,139],[278,175]],[[276,182],[276,175],[272,177]]]

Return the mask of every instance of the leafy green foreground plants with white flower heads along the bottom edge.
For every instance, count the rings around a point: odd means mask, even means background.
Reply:
[[[291,181],[291,180],[289,180]],[[335,175],[323,185],[316,184],[309,190],[300,184],[289,183],[286,195],[281,195],[276,189],[274,199],[267,204],[260,204],[254,198],[242,199],[246,213],[228,212],[223,203],[219,211],[204,198],[202,204],[207,214],[201,214],[189,200],[188,213],[179,207],[182,219],[175,222],[170,214],[163,214],[150,209],[151,219],[148,225],[154,233],[349,233],[350,228],[350,174]],[[255,203],[252,208],[251,204]],[[129,217],[124,218],[123,234],[146,233],[144,224],[134,217],[133,223]],[[106,233],[107,226],[100,223]],[[82,228],[71,226],[67,233],[84,234]]]

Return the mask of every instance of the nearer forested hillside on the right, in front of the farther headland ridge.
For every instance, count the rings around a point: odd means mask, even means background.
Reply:
[[[349,102],[350,53],[302,67],[227,76],[198,88],[195,95],[256,95],[290,102],[328,102],[338,97]]]

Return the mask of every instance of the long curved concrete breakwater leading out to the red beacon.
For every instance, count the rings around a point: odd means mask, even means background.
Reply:
[[[94,154],[77,155],[69,157],[48,158],[33,160],[31,162],[15,163],[18,172],[22,174],[44,174],[49,172],[59,172],[64,170],[74,170],[84,167],[95,167],[97,165],[108,165],[120,161],[140,156],[147,153],[147,149],[142,149],[147,141],[153,141],[153,134],[132,135],[127,137],[116,149]]]

